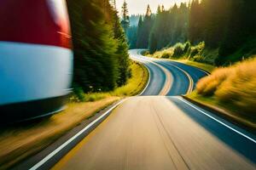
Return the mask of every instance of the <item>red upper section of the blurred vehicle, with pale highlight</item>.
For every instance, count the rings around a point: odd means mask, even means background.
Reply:
[[[65,1],[1,0],[0,41],[71,48]]]

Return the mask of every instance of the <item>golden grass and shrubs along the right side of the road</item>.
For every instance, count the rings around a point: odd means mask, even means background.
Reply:
[[[228,117],[248,127],[256,128],[256,56],[248,56],[247,60],[230,64],[229,67],[217,68],[214,61],[218,57],[218,48],[206,49],[204,43],[200,43],[188,49],[186,46],[189,43],[186,43],[178,43],[154,54],[145,54],[148,57],[172,59],[212,73],[202,78],[197,83],[196,90],[187,97],[221,110]],[[176,48],[179,55],[175,56]],[[234,63],[236,60],[231,61]]]

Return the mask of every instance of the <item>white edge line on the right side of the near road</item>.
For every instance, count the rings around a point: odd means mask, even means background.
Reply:
[[[238,131],[238,130],[236,130],[235,128],[230,127],[229,125],[226,125],[224,122],[219,121],[219,120],[218,120],[218,119],[216,119],[215,117],[210,116],[210,115],[209,115],[209,114],[207,114],[206,112],[201,111],[200,109],[198,109],[198,108],[197,108],[197,107],[195,107],[194,105],[189,104],[189,102],[185,101],[184,99],[180,99],[180,98],[177,98],[177,99],[181,100],[183,103],[185,103],[185,104],[187,104],[187,105],[189,105],[189,106],[193,107],[196,111],[200,111],[202,114],[204,114],[204,115],[206,115],[206,116],[208,116],[208,117],[212,118],[214,121],[216,121],[216,122],[218,122],[218,123],[222,124],[224,127],[228,127],[228,128],[230,128],[230,130],[232,130],[232,131],[234,131],[234,132],[236,132],[236,133],[240,134],[241,136],[245,137],[246,139],[251,140],[254,144],[256,144],[256,140],[255,140],[255,139],[252,139],[252,138],[248,137],[246,134],[239,132],[239,131]]]

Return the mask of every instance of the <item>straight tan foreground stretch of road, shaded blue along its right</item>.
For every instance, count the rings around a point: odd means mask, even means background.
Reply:
[[[179,99],[134,97],[53,169],[255,169],[234,144],[254,159],[253,142]]]

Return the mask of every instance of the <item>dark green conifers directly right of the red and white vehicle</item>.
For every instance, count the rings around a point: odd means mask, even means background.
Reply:
[[[117,12],[105,0],[68,0],[73,33],[73,82],[84,92],[125,84],[128,47]]]

